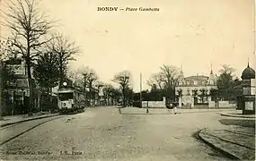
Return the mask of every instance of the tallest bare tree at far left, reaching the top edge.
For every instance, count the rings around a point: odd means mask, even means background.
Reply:
[[[12,32],[13,46],[16,47],[18,54],[25,59],[29,88],[29,115],[31,115],[32,104],[32,62],[40,55],[40,47],[49,42],[45,38],[52,28],[53,21],[48,21],[45,13],[41,13],[36,0],[14,0],[6,2],[7,11],[4,13],[4,26]]]

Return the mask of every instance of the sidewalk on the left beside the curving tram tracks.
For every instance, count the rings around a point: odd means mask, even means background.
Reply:
[[[42,114],[42,113],[34,113],[31,116],[28,116],[28,114],[20,114],[20,115],[7,115],[4,116],[4,120],[0,121],[0,127],[4,127],[7,125],[11,125],[14,123],[22,123],[22,122],[27,122],[31,120],[36,120],[36,119],[42,119],[46,117],[52,117],[58,114]]]

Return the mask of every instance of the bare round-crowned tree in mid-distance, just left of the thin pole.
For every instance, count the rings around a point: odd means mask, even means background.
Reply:
[[[122,71],[114,76],[114,82],[119,83],[123,95],[123,106],[126,105],[125,90],[128,89],[131,80],[131,73],[128,71]]]

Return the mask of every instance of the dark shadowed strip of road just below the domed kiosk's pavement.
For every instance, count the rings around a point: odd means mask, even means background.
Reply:
[[[255,120],[238,120],[238,119],[221,119],[219,123],[225,125],[238,125],[243,127],[251,127],[255,129]]]

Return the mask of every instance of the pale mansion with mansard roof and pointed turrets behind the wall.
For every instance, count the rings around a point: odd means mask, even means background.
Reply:
[[[184,77],[181,70],[178,85],[175,87],[175,96],[180,107],[208,105],[212,99],[212,91],[215,89],[217,89],[216,75],[212,70],[208,76],[198,74],[190,77]]]

